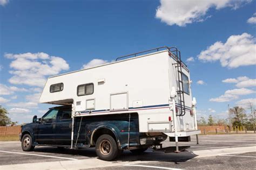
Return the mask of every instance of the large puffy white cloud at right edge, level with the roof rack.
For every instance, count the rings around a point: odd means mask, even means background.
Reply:
[[[217,41],[198,55],[205,62],[220,61],[221,66],[237,68],[256,65],[255,38],[248,33],[230,36],[225,44]]]

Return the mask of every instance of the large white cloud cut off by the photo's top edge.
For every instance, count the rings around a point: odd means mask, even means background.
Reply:
[[[156,11],[156,18],[161,19],[168,25],[186,26],[193,22],[203,22],[211,17],[206,16],[210,8],[216,10],[230,7],[237,9],[251,0],[232,1],[232,0],[207,0],[207,1],[191,1],[191,0],[160,0],[160,6]]]

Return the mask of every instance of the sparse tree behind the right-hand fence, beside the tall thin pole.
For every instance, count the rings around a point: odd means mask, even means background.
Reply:
[[[233,126],[241,126],[244,124],[243,121],[245,121],[245,118],[246,118],[244,108],[242,107],[231,108],[230,113],[233,119]]]

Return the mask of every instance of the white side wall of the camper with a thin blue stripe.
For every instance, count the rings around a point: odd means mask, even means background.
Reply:
[[[169,52],[160,51],[53,76],[46,82],[40,102],[73,101],[81,116],[138,112],[140,132],[170,132],[170,89],[177,89],[177,70],[173,70],[172,63],[175,61]],[[51,84],[56,83],[63,83],[63,90],[50,93]],[[93,94],[77,96],[77,87],[86,83],[94,84]],[[185,100],[191,107],[191,96]],[[177,119],[178,131],[188,130],[185,128],[187,122],[191,123],[190,113]]]

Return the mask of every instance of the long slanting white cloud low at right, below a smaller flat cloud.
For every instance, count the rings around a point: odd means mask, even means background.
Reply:
[[[245,88],[232,89],[232,90],[225,91],[224,95],[221,95],[216,98],[211,98],[210,101],[211,102],[229,102],[229,101],[238,99],[240,95],[249,95],[253,93],[255,93],[255,91],[250,89],[245,89]]]

